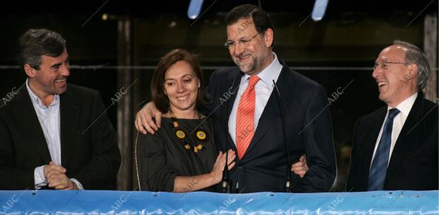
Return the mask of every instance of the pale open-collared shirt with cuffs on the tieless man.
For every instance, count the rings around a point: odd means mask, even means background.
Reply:
[[[59,116],[59,95],[55,94],[55,98],[49,106],[42,104],[41,99],[29,87],[29,79],[26,80],[26,89],[28,90],[30,101],[32,101],[33,109],[37,113],[38,121],[40,121],[42,133],[44,133],[49,149],[50,159],[56,165],[61,166],[61,138],[60,138],[60,116]],[[44,166],[38,166],[34,170],[35,189],[39,189],[47,185],[44,176]],[[79,189],[84,190],[78,180],[71,178]]]

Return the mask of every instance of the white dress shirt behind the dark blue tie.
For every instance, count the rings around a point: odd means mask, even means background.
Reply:
[[[401,133],[402,126],[406,122],[407,116],[409,116],[411,107],[415,103],[416,97],[418,96],[418,92],[411,95],[411,97],[405,99],[403,102],[399,103],[395,108],[400,111],[397,116],[393,119],[393,127],[392,127],[392,140],[390,141],[390,154],[389,161],[387,161],[387,166],[389,165],[390,158],[392,157],[392,152],[397,143],[399,133]],[[389,115],[389,109],[393,109],[391,106],[387,106],[386,117],[384,118],[384,122],[381,125],[380,134],[378,135],[377,142],[375,142],[375,149],[372,155],[372,161],[375,158],[375,152],[377,152],[378,145],[380,144],[382,130],[384,129],[384,123],[387,121],[387,116]],[[372,166],[372,162],[370,162],[370,166]]]

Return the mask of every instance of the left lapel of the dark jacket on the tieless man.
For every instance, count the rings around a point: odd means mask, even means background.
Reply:
[[[41,156],[45,164],[49,164],[52,160],[50,158],[49,148],[42,132],[40,121],[38,120],[37,113],[30,101],[28,90],[24,87],[21,88],[17,97],[17,105],[13,109],[16,111],[15,115],[18,121],[23,125],[23,134],[25,137],[30,137],[28,140],[32,142],[35,147],[35,151]]]

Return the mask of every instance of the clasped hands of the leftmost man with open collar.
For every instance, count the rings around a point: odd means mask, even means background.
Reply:
[[[44,174],[49,188],[55,188],[56,190],[79,190],[72,180],[70,180],[66,173],[67,170],[59,165],[50,164],[44,167]]]

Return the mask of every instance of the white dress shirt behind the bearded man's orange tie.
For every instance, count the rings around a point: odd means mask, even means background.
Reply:
[[[264,68],[258,77],[261,79],[255,85],[255,116],[254,116],[254,131],[258,128],[259,118],[261,118],[263,109],[266,107],[271,92],[273,92],[273,80],[278,81],[282,64],[278,60],[278,56],[273,52],[275,58],[267,68]],[[250,75],[243,75],[239,83],[239,90],[236,94],[236,99],[233,104],[232,112],[229,116],[229,134],[236,145],[236,112],[238,111],[239,99],[249,85]]]

